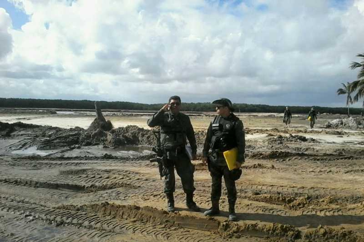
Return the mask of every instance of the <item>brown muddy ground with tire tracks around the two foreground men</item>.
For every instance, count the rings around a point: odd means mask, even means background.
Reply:
[[[149,162],[151,130],[3,122],[0,241],[364,241],[364,133],[323,128],[336,118],[323,115],[311,130],[303,115],[291,129],[277,115],[241,116],[247,158],[238,222],[227,222],[225,188],[220,216],[188,211],[178,178],[177,212],[166,212],[163,181]],[[209,119],[191,117],[199,153]],[[211,178],[193,163],[195,201],[205,211]]]

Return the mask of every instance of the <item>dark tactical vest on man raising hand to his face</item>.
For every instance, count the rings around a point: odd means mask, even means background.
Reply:
[[[186,145],[186,130],[181,124],[181,117],[165,116],[166,120],[161,126],[161,146],[167,149],[174,149]]]

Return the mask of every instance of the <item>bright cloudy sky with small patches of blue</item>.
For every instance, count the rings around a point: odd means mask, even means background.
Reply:
[[[345,106],[363,23],[364,0],[0,0],[0,97]]]

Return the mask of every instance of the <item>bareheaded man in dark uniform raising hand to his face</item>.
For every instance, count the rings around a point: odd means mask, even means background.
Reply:
[[[193,201],[194,166],[186,153],[186,137],[192,148],[192,160],[196,159],[197,145],[195,133],[190,118],[180,113],[181,98],[172,96],[169,103],[164,105],[153,117],[149,118],[147,124],[150,127],[161,127],[161,147],[163,150],[163,170],[165,175],[164,192],[168,199],[168,211],[174,212],[175,177],[174,168],[181,177],[183,191],[186,193],[186,206],[199,211],[199,207]]]

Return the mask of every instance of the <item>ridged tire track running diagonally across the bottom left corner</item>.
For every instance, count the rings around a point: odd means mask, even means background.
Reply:
[[[70,211],[60,209],[45,209],[36,205],[23,205],[18,203],[0,201],[0,211],[14,212],[17,214],[25,215],[27,217],[34,216],[35,218],[53,221],[63,225],[76,225],[83,228],[101,229],[110,233],[138,233],[145,237],[152,237],[155,239],[162,239],[165,241],[170,240],[185,240],[189,237],[189,241],[201,241],[201,239],[209,236],[209,241],[221,241],[218,235],[210,234],[209,232],[199,231],[197,234],[192,234],[186,230],[178,227],[169,227],[158,225],[156,223],[137,221],[127,221],[120,219],[113,219],[110,217],[96,215],[95,213],[86,213],[82,211]],[[120,217],[119,217],[120,218]],[[82,238],[87,233],[77,231],[74,235]]]

